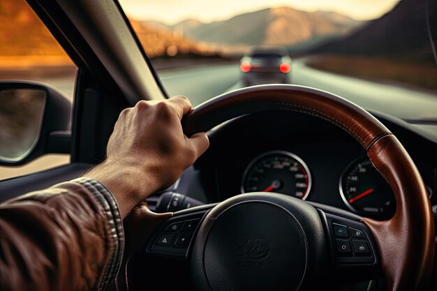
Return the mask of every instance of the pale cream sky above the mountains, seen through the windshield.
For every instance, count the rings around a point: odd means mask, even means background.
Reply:
[[[355,20],[372,20],[392,10],[401,0],[119,0],[129,17],[176,24],[227,20],[232,16],[268,7],[334,11]]]

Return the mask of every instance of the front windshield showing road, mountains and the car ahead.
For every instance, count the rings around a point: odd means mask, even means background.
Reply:
[[[169,96],[297,84],[437,124],[437,1],[120,3]]]

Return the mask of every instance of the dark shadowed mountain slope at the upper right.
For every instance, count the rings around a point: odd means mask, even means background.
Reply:
[[[313,52],[364,54],[411,61],[434,61],[427,29],[437,46],[437,1],[403,0],[390,13],[357,29],[346,38],[331,40]]]

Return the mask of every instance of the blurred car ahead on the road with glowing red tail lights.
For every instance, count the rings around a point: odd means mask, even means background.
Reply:
[[[251,47],[242,57],[239,69],[244,86],[290,83],[291,58],[286,47]]]

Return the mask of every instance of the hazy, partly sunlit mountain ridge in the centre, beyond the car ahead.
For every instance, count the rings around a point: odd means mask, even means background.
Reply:
[[[290,7],[266,8],[225,21],[202,23],[185,20],[170,27],[205,43],[227,45],[296,45],[317,38],[339,36],[360,26],[338,13],[313,13]]]

